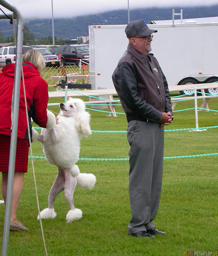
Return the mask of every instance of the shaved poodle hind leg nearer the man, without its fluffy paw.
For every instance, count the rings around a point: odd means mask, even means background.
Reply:
[[[70,210],[74,210],[74,201],[72,198],[72,195],[74,194],[74,189],[76,187],[76,178],[73,177],[69,170],[63,169],[64,175],[65,175],[65,183],[64,183],[64,195],[66,198],[66,201],[68,202],[70,206]]]

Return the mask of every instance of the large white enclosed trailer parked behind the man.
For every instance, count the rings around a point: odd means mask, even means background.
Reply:
[[[154,33],[152,52],[169,86],[218,81],[218,22],[193,22],[148,25],[158,30]],[[111,75],[128,45],[125,27],[89,26],[89,75],[93,89],[114,88]],[[206,92],[218,94],[218,88]]]

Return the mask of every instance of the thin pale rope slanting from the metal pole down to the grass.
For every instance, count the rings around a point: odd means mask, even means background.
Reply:
[[[29,130],[29,122],[28,122],[28,111],[27,111],[27,99],[26,99],[26,91],[25,91],[25,82],[24,82],[24,76],[23,76],[23,68],[21,66],[21,72],[22,72],[22,81],[23,81],[23,93],[24,93],[24,98],[25,98],[25,108],[26,108],[26,116],[27,116],[27,128],[28,128],[28,138],[29,138],[29,148],[31,151],[31,163],[32,163],[32,170],[33,170],[33,180],[35,184],[35,195],[37,197],[37,207],[38,207],[38,213],[39,213],[39,221],[40,221],[40,227],[41,227],[41,235],[43,236],[43,244],[44,244],[44,249],[45,249],[45,255],[47,256],[47,249],[45,245],[45,237],[44,237],[44,232],[43,232],[43,224],[41,222],[41,217],[40,217],[40,209],[39,209],[39,199],[38,199],[38,192],[37,192],[37,182],[35,180],[35,170],[34,170],[34,164],[33,164],[33,153],[32,153],[32,145],[31,145],[31,135],[30,135],[30,130]]]

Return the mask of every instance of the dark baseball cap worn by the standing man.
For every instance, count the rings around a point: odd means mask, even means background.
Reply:
[[[141,35],[141,37],[147,37],[152,33],[158,32],[155,29],[148,28],[144,20],[131,21],[125,28],[127,38],[135,37],[135,35]]]

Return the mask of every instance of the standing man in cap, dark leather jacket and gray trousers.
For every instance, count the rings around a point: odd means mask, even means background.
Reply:
[[[125,28],[129,45],[112,79],[128,121],[129,196],[132,218],[128,234],[154,238],[165,235],[154,227],[159,207],[164,159],[164,126],[173,113],[168,84],[157,59],[149,53],[153,34],[144,20]]]

